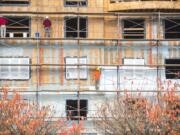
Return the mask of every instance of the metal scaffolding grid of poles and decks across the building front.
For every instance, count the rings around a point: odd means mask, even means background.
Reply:
[[[37,5],[37,6],[40,6],[40,5]],[[12,12],[10,11],[1,11],[0,12],[0,15],[11,15]],[[126,66],[130,66],[130,67],[133,67],[133,66],[138,66],[138,67],[156,67],[157,68],[157,77],[159,76],[159,70],[161,70],[160,68],[162,67],[167,67],[167,66],[180,66],[180,65],[174,65],[174,64],[159,64],[159,61],[158,61],[158,58],[159,58],[159,54],[158,52],[160,51],[159,50],[159,47],[162,46],[161,42],[164,42],[164,41],[180,41],[180,39],[162,39],[161,38],[161,30],[160,30],[160,25],[161,25],[161,18],[164,17],[166,19],[168,19],[168,17],[171,17],[171,16],[180,16],[180,13],[161,13],[161,12],[152,12],[152,13],[82,13],[82,12],[79,12],[79,6],[77,7],[77,12],[41,12],[39,11],[38,9],[35,11],[35,12],[22,12],[22,11],[16,11],[16,12],[13,12],[14,15],[27,15],[27,16],[33,16],[33,17],[40,17],[41,15],[72,15],[72,16],[75,16],[77,17],[78,19],[78,26],[77,26],[77,37],[76,38],[32,38],[32,37],[29,37],[29,38],[0,38],[1,40],[3,41],[8,41],[8,40],[32,40],[32,41],[36,41],[36,53],[37,53],[37,56],[36,56],[36,64],[0,64],[0,66],[31,66],[31,67],[36,67],[36,75],[37,75],[37,82],[36,82],[36,102],[37,104],[39,104],[39,93],[41,92],[47,92],[47,90],[40,90],[39,89],[39,85],[40,85],[40,73],[39,71],[41,70],[41,68],[43,67],[66,67],[66,66],[77,66],[78,68],[78,89],[76,91],[71,91],[71,90],[51,90],[51,91],[48,91],[50,93],[56,93],[56,92],[72,92],[72,93],[77,93],[77,100],[78,100],[78,108],[77,111],[78,111],[78,116],[79,116],[79,120],[81,119],[80,118],[80,94],[83,93],[83,92],[98,92],[98,91],[94,91],[94,90],[81,90],[80,89],[80,68],[81,66],[89,66],[90,68],[93,68],[95,66],[115,66],[117,67],[117,90],[101,90],[100,92],[107,92],[107,93],[111,93],[111,92],[114,92],[114,93],[120,93],[120,92],[124,92],[124,90],[121,90],[120,89],[120,77],[119,77],[119,69],[120,67],[124,66],[124,64],[121,64],[120,61],[118,61],[117,64],[80,64],[80,50],[81,50],[81,41],[102,41],[102,42],[106,42],[106,41],[111,41],[111,42],[116,42],[116,47],[117,47],[117,52],[118,52],[118,60],[120,59],[120,49],[122,47],[122,42],[128,42],[128,41],[138,41],[138,42],[151,42],[153,45],[153,47],[156,47],[156,51],[157,51],[157,61],[156,63],[157,64],[151,64],[151,65],[126,65]],[[80,24],[79,24],[79,18],[80,16],[87,16],[87,17],[91,17],[91,16],[99,16],[99,17],[105,17],[105,16],[113,16],[113,17],[117,17],[117,37],[118,38],[81,38],[80,37]],[[155,39],[133,39],[133,40],[129,40],[129,39],[122,39],[120,38],[120,18],[121,17],[125,17],[125,16],[129,16],[129,17],[139,17],[139,16],[152,16],[154,17],[155,19],[157,19],[158,21],[158,32],[157,32],[157,38]],[[154,19],[153,18],[153,19]],[[176,23],[176,22],[175,22]],[[180,24],[177,24],[177,25],[180,25]],[[38,23],[37,23],[37,31],[39,29],[39,26],[38,26]],[[87,29],[87,28],[86,28]],[[68,41],[68,40],[72,40],[72,41],[76,41],[77,42],[77,45],[78,45],[78,48],[77,48],[77,51],[78,51],[78,63],[77,64],[44,64],[44,63],[40,63],[39,59],[40,59],[40,56],[39,56],[39,51],[40,51],[40,41]],[[150,44],[147,43],[147,45],[149,46]],[[2,89],[2,88],[1,88]],[[25,91],[25,90],[20,90],[18,92],[22,92],[22,93],[28,93],[28,92],[34,92],[34,91]],[[128,91],[128,92],[132,92],[132,93],[135,93],[137,91]],[[138,91],[139,92],[139,91]],[[147,92],[146,90],[144,91],[141,91],[141,92]],[[149,90],[148,92],[159,92],[159,86],[157,84],[157,91],[155,90]],[[180,90],[177,90],[176,92],[180,92]]]

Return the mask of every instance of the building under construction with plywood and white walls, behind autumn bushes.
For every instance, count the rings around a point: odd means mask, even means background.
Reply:
[[[179,11],[179,0],[0,0],[8,20],[0,87],[54,106],[55,117],[71,111],[71,120],[85,120],[84,134],[98,135],[92,120],[107,98],[125,90],[153,97],[158,81],[179,86]]]

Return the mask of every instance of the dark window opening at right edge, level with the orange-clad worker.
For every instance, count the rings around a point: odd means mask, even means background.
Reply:
[[[166,59],[165,64],[166,79],[180,79],[180,59]]]

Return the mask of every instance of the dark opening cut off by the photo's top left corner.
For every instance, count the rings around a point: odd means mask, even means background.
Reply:
[[[28,5],[30,0],[0,0],[0,5]]]

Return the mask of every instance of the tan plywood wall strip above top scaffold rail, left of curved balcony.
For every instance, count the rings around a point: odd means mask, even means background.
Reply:
[[[88,0],[87,7],[66,7],[64,0],[31,0],[28,6],[2,6],[2,11],[30,11],[30,12],[87,12],[97,13],[104,11],[103,0]]]

